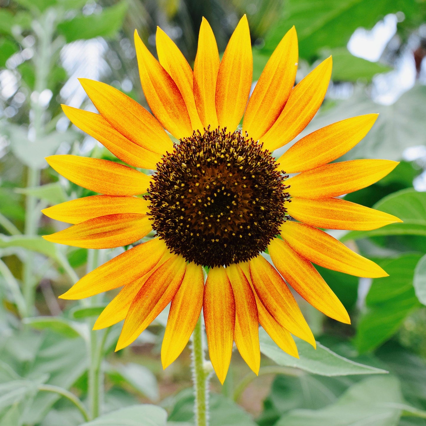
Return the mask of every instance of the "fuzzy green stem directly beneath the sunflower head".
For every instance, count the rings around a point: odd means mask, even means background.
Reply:
[[[204,368],[204,337],[201,315],[192,335],[192,372],[195,392],[196,426],[208,426],[208,382],[210,373]]]

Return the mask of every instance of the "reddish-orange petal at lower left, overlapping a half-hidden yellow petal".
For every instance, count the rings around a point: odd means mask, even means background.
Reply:
[[[145,281],[127,312],[116,351],[130,345],[170,303],[181,285],[185,269],[185,259],[175,254]]]

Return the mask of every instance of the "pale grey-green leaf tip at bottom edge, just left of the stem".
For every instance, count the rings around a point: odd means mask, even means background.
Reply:
[[[81,426],[166,426],[167,412],[155,405],[143,404],[104,414]]]

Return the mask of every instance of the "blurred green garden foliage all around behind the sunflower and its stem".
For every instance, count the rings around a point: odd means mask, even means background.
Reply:
[[[223,52],[242,14],[250,24],[253,84],[293,25],[296,81],[333,55],[325,102],[301,136],[380,113],[344,159],[401,163],[345,199],[404,223],[330,231],[390,276],[358,279],[318,267],[352,325],[299,300],[321,343],[317,351],[297,341],[301,360],[294,360],[261,334],[259,377],[234,351],[225,385],[211,380],[211,425],[426,425],[424,0],[0,0],[0,425],[75,426],[98,416],[87,424],[162,425],[166,417],[167,424],[193,424],[189,349],[161,368],[167,312],[114,353],[120,324],[91,331],[114,294],[82,302],[57,298],[124,249],[76,249],[41,239],[65,226],[42,208],[93,194],[58,176],[44,157],[119,161],[70,125],[60,104],[95,111],[77,80],[85,77],[148,108],[135,29],[155,55],[160,26],[193,65],[201,17]]]

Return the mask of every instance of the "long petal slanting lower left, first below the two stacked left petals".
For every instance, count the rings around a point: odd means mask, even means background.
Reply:
[[[166,252],[167,246],[154,238],[121,253],[83,276],[60,299],[84,299],[127,285],[151,271]]]

